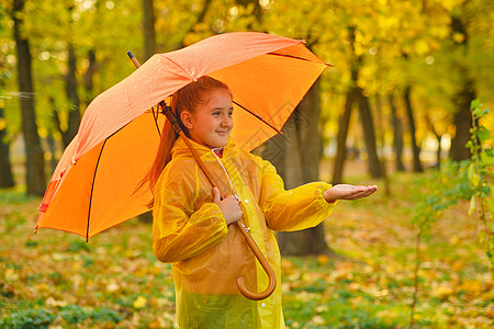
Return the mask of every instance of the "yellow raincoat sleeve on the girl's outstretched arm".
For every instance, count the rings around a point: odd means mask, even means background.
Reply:
[[[262,160],[260,206],[267,225],[277,231],[301,230],[326,219],[336,202],[329,203],[323,192],[332,185],[314,182],[285,191],[274,167]]]

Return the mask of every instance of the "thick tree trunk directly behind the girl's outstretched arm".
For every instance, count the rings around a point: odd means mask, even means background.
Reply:
[[[316,81],[284,125],[282,150],[265,151],[265,154],[278,155],[282,158],[283,169],[279,170],[279,173],[285,182],[285,189],[318,180],[322,156],[318,128],[319,90],[319,81]],[[279,139],[270,140],[267,148],[279,147],[277,140]],[[270,160],[273,160],[274,166],[281,162],[279,159]],[[332,253],[325,240],[324,223],[301,231],[279,232],[278,243],[282,254]]]

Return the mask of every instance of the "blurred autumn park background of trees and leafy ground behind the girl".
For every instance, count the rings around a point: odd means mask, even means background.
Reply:
[[[368,201],[341,202],[325,227],[278,235],[283,254],[317,256],[283,260],[287,325],[491,328],[494,114],[483,109],[494,103],[493,9],[489,0],[0,0],[0,325],[173,327],[171,270],[153,256],[149,217],[91,245],[29,232],[85,109],[135,70],[126,52],[143,64],[214,34],[257,31],[304,39],[334,67],[284,135],[255,152],[289,189],[380,186]]]

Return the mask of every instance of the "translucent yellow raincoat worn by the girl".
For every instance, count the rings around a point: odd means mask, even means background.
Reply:
[[[193,143],[220,190],[237,195],[243,220],[277,275],[274,293],[250,300],[237,290],[244,276],[251,292],[265,291],[268,276],[236,225],[226,226],[213,203],[212,186],[181,137],[172,160],[155,188],[153,249],[172,263],[180,328],[285,328],[281,310],[280,251],[272,230],[314,227],[328,217],[334,203],[323,192],[327,183],[308,183],[284,191],[274,167],[237,150],[229,140],[217,157]]]

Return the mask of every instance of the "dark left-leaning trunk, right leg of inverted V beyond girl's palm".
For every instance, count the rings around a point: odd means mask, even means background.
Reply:
[[[363,90],[357,87],[357,102],[359,104],[360,120],[363,127],[367,154],[369,160],[369,173],[372,178],[383,177],[381,163],[378,158],[378,148],[375,146],[374,124],[370,112],[369,99],[363,95]]]

